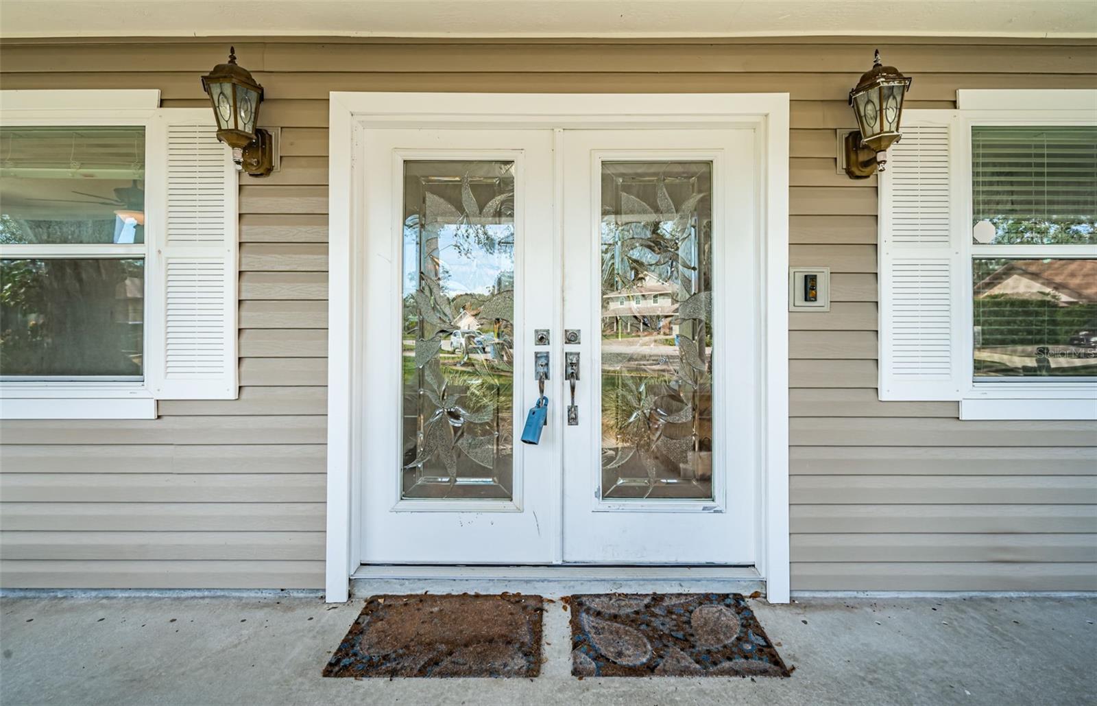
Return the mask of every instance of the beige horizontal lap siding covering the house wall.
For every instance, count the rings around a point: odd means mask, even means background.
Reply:
[[[240,191],[240,399],[4,424],[3,585],[323,586],[328,91],[788,91],[791,261],[834,272],[832,311],[791,315],[793,589],[1097,590],[1097,425],[877,400],[877,183],[835,173],[834,132],[877,46],[915,77],[909,107],[951,108],[958,88],[1095,88],[1097,43],[235,44],[283,128],[282,171]],[[200,107],[227,45],[4,42],[0,88]]]

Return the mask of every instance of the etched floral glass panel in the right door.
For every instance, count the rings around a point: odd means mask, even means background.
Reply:
[[[602,164],[602,497],[712,498],[712,164]]]

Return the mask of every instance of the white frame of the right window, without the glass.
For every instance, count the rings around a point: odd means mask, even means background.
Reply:
[[[962,93],[962,92],[961,92]],[[1003,91],[1008,93],[1008,91]],[[1031,93],[1031,91],[1026,91]],[[1095,92],[1097,93],[1097,92]],[[1003,100],[1008,97],[1003,98]],[[1052,97],[1049,97],[1052,98]],[[961,100],[961,103],[963,101]],[[1031,103],[1027,103],[1031,104]],[[962,381],[961,419],[1095,419],[1097,418],[1097,380],[1047,381],[1016,379],[976,381],[974,374],[974,282],[972,265],[976,258],[1097,258],[1090,245],[976,245],[972,242],[974,203],[972,189],[972,131],[976,126],[1097,125],[1094,111],[1077,110],[1076,104],[1061,109],[1053,104],[1039,110],[960,110],[959,130],[951,150],[953,197],[957,216],[961,271],[960,285],[953,292],[953,305],[962,322],[963,337],[959,352]]]

